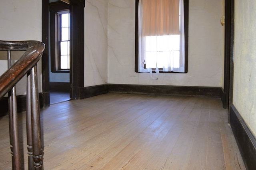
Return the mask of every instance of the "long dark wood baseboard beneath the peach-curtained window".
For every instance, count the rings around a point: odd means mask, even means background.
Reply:
[[[108,84],[108,92],[142,95],[221,97],[220,87]]]

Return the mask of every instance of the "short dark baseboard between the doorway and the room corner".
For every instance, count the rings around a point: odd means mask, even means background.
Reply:
[[[84,98],[108,93],[108,84],[84,87]]]

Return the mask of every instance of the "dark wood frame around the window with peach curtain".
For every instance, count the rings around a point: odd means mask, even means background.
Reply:
[[[135,12],[135,72],[138,73],[138,60],[139,60],[139,36],[138,36],[138,5],[139,0],[136,0]],[[184,0],[184,34],[185,34],[185,72],[188,73],[188,0]],[[152,69],[152,72],[155,72]],[[178,72],[164,72],[159,69],[160,73],[178,73]]]

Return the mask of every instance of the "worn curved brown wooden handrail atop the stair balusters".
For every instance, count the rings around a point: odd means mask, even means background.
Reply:
[[[38,41],[2,41],[0,40],[0,51],[25,51],[25,53],[16,61],[10,69],[0,76],[0,99],[8,92],[18,81],[26,75],[28,71],[42,57],[45,45]]]

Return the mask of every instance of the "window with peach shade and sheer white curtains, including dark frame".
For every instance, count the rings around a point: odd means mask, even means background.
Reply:
[[[188,71],[188,0],[136,0],[135,71]]]

